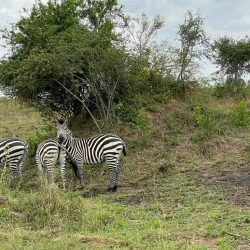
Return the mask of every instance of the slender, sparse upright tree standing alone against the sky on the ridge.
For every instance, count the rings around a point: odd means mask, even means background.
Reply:
[[[204,31],[204,19],[200,13],[187,11],[185,21],[179,25],[178,41],[180,47],[176,49],[177,82],[188,82],[192,79],[193,71],[197,67],[197,59],[201,59],[208,52],[208,38]]]

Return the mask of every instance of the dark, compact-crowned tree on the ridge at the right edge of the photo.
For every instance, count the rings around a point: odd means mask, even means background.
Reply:
[[[250,39],[241,40],[223,37],[214,42],[214,62],[219,72],[227,76],[228,84],[239,82],[244,73],[250,68]]]

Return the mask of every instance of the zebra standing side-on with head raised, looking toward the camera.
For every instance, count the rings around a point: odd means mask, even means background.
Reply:
[[[115,192],[118,185],[118,175],[122,155],[126,155],[123,140],[112,134],[98,135],[91,138],[75,138],[63,120],[59,120],[57,140],[67,150],[74,164],[78,167],[81,187],[83,182],[83,165],[107,162],[111,173],[108,191]]]

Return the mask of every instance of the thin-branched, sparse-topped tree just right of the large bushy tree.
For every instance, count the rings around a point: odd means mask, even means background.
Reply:
[[[125,19],[124,44],[126,51],[131,55],[130,63],[135,74],[134,78],[140,77],[140,81],[135,85],[140,89],[138,93],[143,93],[143,99],[146,95],[166,96],[166,82],[173,79],[171,75],[172,62],[166,53],[166,43],[156,39],[157,32],[163,27],[164,21],[160,16],[150,20],[145,14],[139,17]],[[139,73],[141,71],[141,73]],[[133,91],[135,93],[135,91]],[[159,97],[159,96],[158,96]]]

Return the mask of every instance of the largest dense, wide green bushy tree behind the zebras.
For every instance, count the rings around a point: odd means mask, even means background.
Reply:
[[[125,62],[125,52],[113,45],[119,41],[114,25],[121,15],[116,0],[39,1],[10,31],[3,30],[11,48],[0,63],[3,90],[43,112],[67,116],[83,107],[58,82],[90,109],[100,110],[100,96],[109,105],[120,74],[116,69]],[[113,70],[108,76],[107,63]]]

